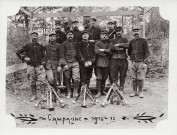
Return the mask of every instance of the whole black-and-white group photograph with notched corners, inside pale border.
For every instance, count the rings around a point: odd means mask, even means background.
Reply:
[[[155,129],[169,23],[156,6],[21,6],[7,17],[6,114],[17,128]]]

